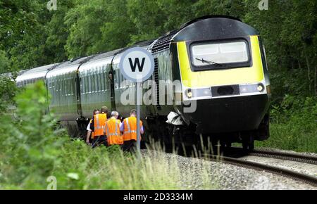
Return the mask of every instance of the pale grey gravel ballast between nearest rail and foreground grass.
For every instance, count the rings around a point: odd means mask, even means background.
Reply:
[[[142,154],[154,158],[159,156],[176,166],[181,175],[181,189],[317,189],[288,177],[222,162],[152,150],[142,150]]]

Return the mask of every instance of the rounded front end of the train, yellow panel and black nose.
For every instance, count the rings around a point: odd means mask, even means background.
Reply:
[[[171,49],[178,59],[173,76],[182,83],[178,112],[197,134],[268,138],[271,88],[264,47],[253,27],[235,18],[194,20],[175,34]]]

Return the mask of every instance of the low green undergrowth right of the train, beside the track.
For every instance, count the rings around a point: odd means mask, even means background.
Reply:
[[[317,100],[286,95],[271,108],[271,137],[257,146],[317,153]]]

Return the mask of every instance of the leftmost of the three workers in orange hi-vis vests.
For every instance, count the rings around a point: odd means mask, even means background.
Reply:
[[[103,144],[107,146],[106,134],[104,132],[104,127],[107,121],[107,113],[108,108],[106,106],[102,106],[100,109],[100,113],[94,115],[94,120],[90,125],[92,132],[94,132],[94,139],[92,140],[92,148]]]

